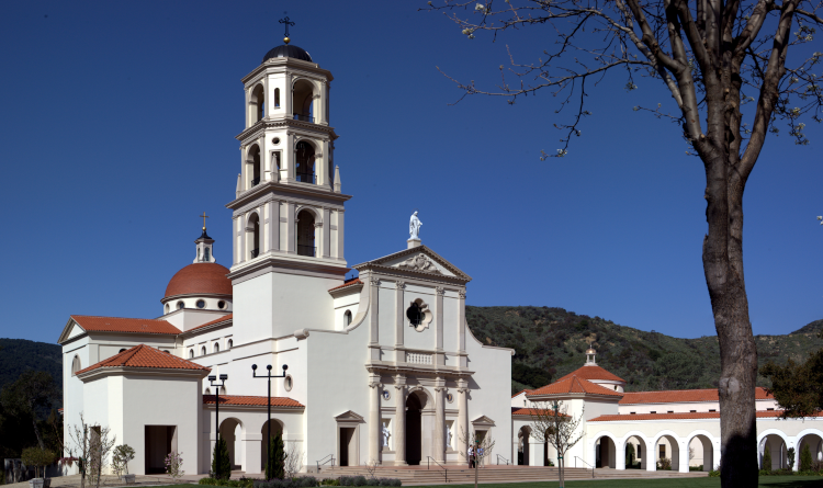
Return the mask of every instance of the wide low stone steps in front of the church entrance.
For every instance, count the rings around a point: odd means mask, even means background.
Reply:
[[[325,468],[315,476],[338,477],[358,476],[369,477],[369,470],[364,466],[346,466]],[[594,470],[595,479],[642,479],[642,478],[697,478],[704,477],[708,473],[690,472],[645,472],[640,469],[609,469],[597,468]],[[474,469],[465,466],[446,466],[446,470],[432,465],[426,466],[397,466],[377,467],[374,476],[379,478],[399,478],[404,486],[414,485],[470,485],[474,483]],[[486,466],[477,470],[478,483],[525,483],[525,481],[555,481],[557,480],[556,467],[542,466]],[[584,468],[567,467],[565,479],[591,479],[593,470]]]

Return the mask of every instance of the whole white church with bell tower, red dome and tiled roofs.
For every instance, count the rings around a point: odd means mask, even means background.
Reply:
[[[243,78],[230,268],[204,225],[159,317],[70,316],[58,340],[67,451],[82,418],[135,450],[136,474],[162,473],[171,451],[207,473],[218,434],[252,476],[269,432],[308,470],[465,464],[472,433],[510,455],[512,351],[469,330],[471,277],[421,243],[416,214],[396,252],[345,259],[331,81],[288,42]]]

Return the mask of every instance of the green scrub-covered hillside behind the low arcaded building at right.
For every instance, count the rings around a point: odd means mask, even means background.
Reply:
[[[714,388],[720,375],[714,336],[678,339],[549,307],[466,306],[466,319],[478,340],[517,351],[512,394],[580,367],[589,341],[597,350],[597,363],[625,379],[628,391]],[[804,360],[823,347],[816,337],[822,326],[823,320],[818,320],[790,334],[757,336],[759,363]],[[758,385],[768,386],[768,379],[759,377]]]

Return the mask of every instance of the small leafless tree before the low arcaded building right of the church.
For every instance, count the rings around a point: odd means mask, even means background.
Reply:
[[[529,415],[531,435],[557,451],[560,486],[563,486],[566,453],[583,439],[583,429],[579,428],[583,410],[579,417],[574,418],[568,416],[568,407],[562,401],[532,401]]]

